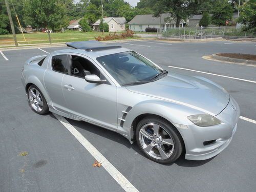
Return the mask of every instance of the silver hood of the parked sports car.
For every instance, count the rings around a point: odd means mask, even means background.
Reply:
[[[166,75],[159,80],[126,89],[189,106],[210,115],[218,115],[230,99],[229,94],[218,84],[203,77],[181,74]]]

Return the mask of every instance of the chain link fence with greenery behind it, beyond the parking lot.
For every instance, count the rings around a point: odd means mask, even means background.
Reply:
[[[236,27],[166,28],[158,31],[158,38],[206,39],[206,38],[255,38],[256,34]]]

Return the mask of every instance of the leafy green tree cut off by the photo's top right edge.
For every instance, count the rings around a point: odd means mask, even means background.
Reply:
[[[256,2],[249,0],[240,7],[238,22],[243,24],[243,30],[256,33]]]

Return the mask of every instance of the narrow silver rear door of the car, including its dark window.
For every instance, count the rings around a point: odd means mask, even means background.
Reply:
[[[48,68],[45,72],[44,82],[48,95],[50,96],[52,106],[59,111],[66,111],[66,102],[62,92],[62,78],[64,74],[69,73],[68,54],[53,55],[48,63]]]

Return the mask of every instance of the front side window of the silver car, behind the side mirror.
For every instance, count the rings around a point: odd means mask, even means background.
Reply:
[[[71,59],[71,75],[82,78],[86,75],[97,75],[102,80],[105,79],[99,69],[91,61],[75,55],[72,55]]]

